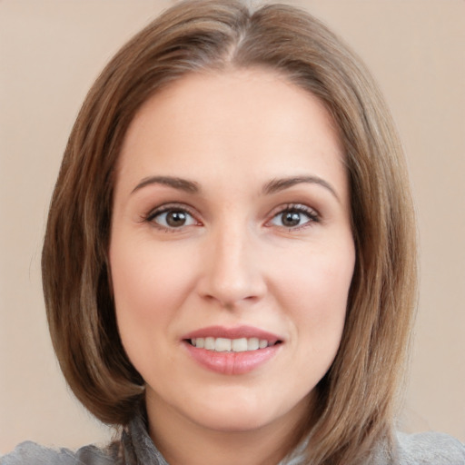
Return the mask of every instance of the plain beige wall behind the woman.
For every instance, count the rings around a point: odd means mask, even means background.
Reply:
[[[96,74],[171,2],[0,0],[0,452],[104,440],[66,390],[39,259],[67,134]],[[361,54],[411,167],[421,283],[404,428],[465,440],[465,1],[308,0]]]

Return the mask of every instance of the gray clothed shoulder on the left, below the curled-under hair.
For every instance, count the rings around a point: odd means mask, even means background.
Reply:
[[[50,449],[35,442],[25,441],[13,452],[0,457],[0,465],[116,465],[117,457],[111,450],[85,446],[77,451]]]

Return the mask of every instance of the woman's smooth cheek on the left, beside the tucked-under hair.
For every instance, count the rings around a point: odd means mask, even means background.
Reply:
[[[167,342],[173,340],[173,321],[193,282],[193,268],[186,264],[183,251],[156,247],[153,241],[125,241],[124,236],[112,240],[118,331],[129,360],[146,381],[152,371],[175,365]]]

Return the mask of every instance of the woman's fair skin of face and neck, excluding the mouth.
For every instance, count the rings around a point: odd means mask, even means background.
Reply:
[[[260,69],[190,74],[134,117],[110,264],[150,434],[172,465],[277,463],[309,418],[355,262],[342,158],[322,103]],[[167,223],[173,211],[182,221]],[[211,371],[186,351],[189,331],[243,324],[282,341],[250,372]]]

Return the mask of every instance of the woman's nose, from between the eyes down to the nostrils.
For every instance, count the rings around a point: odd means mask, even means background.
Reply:
[[[266,292],[258,244],[245,227],[222,228],[205,243],[199,292],[204,299],[233,309],[259,301]]]

